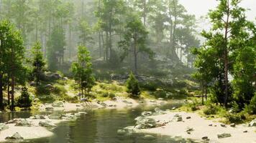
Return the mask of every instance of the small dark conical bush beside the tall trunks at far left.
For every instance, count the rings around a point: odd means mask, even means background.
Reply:
[[[18,106],[24,109],[27,109],[32,106],[32,99],[29,97],[29,93],[27,92],[27,87],[22,87],[22,94],[17,102]]]

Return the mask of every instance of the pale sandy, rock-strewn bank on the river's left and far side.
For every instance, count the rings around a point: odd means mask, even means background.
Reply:
[[[53,135],[52,129],[58,126],[60,122],[67,122],[76,119],[76,117],[85,114],[85,109],[125,109],[134,108],[139,105],[157,106],[167,104],[163,100],[136,100],[124,97],[116,97],[115,100],[106,100],[99,102],[93,100],[92,102],[82,103],[68,103],[68,102],[54,102],[52,104],[41,104],[40,112],[47,112],[42,115],[35,115],[28,119],[13,119],[1,124],[0,142],[7,141],[8,137],[14,136],[14,140],[20,139],[37,139],[42,137],[50,137]],[[62,114],[60,114],[62,112]],[[66,112],[78,112],[66,113]],[[56,114],[58,113],[58,114]],[[1,113],[4,114],[4,113]],[[19,124],[20,123],[20,124]]]

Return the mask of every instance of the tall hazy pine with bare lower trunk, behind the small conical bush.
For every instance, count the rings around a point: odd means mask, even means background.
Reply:
[[[119,41],[119,46],[124,49],[122,59],[129,52],[134,56],[134,73],[137,74],[137,55],[140,52],[145,52],[152,57],[153,52],[145,46],[148,32],[143,26],[142,21],[137,16],[132,16],[125,26],[124,40]]]

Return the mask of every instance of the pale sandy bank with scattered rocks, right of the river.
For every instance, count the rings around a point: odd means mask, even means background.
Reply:
[[[207,119],[196,113],[188,112],[166,112],[165,114],[149,116],[147,118],[155,119],[160,125],[150,129],[134,129],[136,132],[162,134],[209,142],[256,142],[256,128],[248,127],[248,124],[232,124],[235,127],[231,127],[229,124],[218,122],[217,119]]]

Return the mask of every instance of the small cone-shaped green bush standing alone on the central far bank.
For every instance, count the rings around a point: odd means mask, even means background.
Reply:
[[[134,97],[139,97],[140,86],[137,79],[134,77],[132,72],[129,74],[129,79],[127,79],[127,92],[131,93]]]

